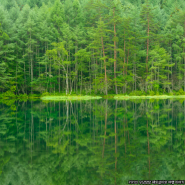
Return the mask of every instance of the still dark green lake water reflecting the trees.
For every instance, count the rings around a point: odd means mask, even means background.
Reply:
[[[184,100],[0,104],[0,185],[185,180]]]

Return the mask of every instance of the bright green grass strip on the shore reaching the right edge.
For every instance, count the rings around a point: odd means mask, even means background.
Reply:
[[[158,96],[114,96],[114,99],[123,100],[123,99],[167,99],[167,98],[185,98],[185,95],[158,95]]]

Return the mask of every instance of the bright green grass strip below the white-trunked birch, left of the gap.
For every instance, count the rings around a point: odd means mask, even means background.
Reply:
[[[42,100],[92,100],[92,99],[101,99],[100,96],[43,96]]]

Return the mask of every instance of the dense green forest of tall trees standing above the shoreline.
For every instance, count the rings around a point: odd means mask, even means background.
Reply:
[[[0,92],[185,94],[184,0],[0,0]]]

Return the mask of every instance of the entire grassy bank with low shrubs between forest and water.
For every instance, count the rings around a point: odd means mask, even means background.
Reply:
[[[49,93],[49,92],[44,92],[42,94],[16,94],[15,89],[10,89],[9,91],[6,91],[2,94],[0,94],[0,100],[37,100],[37,99],[42,99],[42,100],[56,100],[56,101],[61,101],[61,100],[90,100],[90,99],[167,99],[167,98],[185,98],[185,92],[180,89],[179,91],[173,91],[170,93],[162,93],[162,92],[154,92],[154,91],[132,91],[129,94],[68,94],[66,95],[64,92],[63,93]]]

